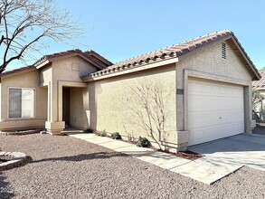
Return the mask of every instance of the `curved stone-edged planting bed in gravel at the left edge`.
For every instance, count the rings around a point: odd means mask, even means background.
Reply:
[[[30,156],[26,156],[24,153],[2,151],[0,152],[0,171],[18,166],[24,166],[30,161],[32,161],[32,158]]]

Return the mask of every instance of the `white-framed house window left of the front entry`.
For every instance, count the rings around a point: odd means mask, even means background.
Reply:
[[[33,89],[9,89],[9,118],[33,118],[34,117],[35,90]]]

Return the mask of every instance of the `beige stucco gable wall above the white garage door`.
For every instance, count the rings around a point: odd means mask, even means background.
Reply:
[[[226,44],[226,59],[222,59],[222,43],[212,43],[200,51],[188,53],[177,62],[176,67],[178,70],[203,71],[251,83],[250,71],[241,61],[240,56],[235,53],[228,41],[223,43]],[[182,78],[178,79],[182,81]]]

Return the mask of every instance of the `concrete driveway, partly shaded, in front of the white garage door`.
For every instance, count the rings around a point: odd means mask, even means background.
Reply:
[[[265,171],[265,136],[240,134],[188,149],[205,155],[203,160],[209,164],[250,166]]]

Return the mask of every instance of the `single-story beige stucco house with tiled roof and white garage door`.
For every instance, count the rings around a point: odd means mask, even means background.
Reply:
[[[156,116],[142,110],[154,99],[141,98],[152,96],[156,85],[157,93],[163,90],[158,102],[164,103],[165,117],[155,138],[183,150],[251,133],[251,81],[257,80],[259,71],[227,30],[116,64],[93,51],[59,52],[2,73],[0,130],[45,127],[58,134],[68,125],[153,140],[148,125],[157,124],[145,119]]]

